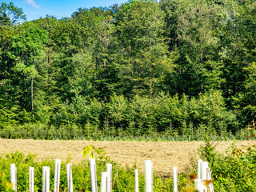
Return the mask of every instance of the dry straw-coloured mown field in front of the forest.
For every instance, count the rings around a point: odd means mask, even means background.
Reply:
[[[216,142],[216,150],[224,153],[232,142]],[[0,139],[0,151],[11,153],[18,150],[25,154],[37,154],[40,161],[44,158],[59,158],[65,161],[69,154],[71,163],[81,162],[82,149],[88,145],[104,148],[106,156],[118,162],[121,166],[138,166],[144,170],[144,160],[154,162],[154,171],[161,176],[170,176],[173,166],[178,171],[186,170],[190,158],[196,157],[198,147],[204,142],[94,142],[94,141],[44,141],[30,139]],[[242,146],[246,142],[237,142]]]

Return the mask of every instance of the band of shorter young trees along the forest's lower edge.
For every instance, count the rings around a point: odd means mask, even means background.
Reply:
[[[38,102],[35,102],[39,104]],[[41,104],[42,105],[42,104]],[[114,94],[110,102],[97,99],[86,102],[78,96],[74,102],[58,103],[35,111],[37,122],[30,123],[24,111],[22,121],[3,123],[2,138],[42,139],[132,139],[205,140],[246,139],[238,131],[236,115],[226,110],[218,91],[200,94],[199,98],[178,98],[161,93],[156,98],[135,96],[130,102]],[[47,111],[47,115],[45,115]],[[212,111],[214,110],[214,112]],[[17,114],[13,114],[14,118]],[[11,122],[9,116],[8,122]],[[244,133],[243,135],[241,135]]]

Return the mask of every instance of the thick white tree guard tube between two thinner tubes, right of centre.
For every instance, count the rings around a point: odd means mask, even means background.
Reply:
[[[153,192],[153,162],[145,161],[145,192]]]

